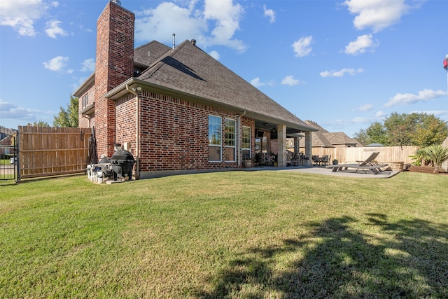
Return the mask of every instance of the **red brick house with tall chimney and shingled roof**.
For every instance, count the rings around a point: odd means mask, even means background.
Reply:
[[[121,144],[137,160],[136,178],[235,169],[271,153],[286,166],[286,138],[309,127],[205,53],[195,40],[134,48],[134,13],[109,1],[97,21],[94,74],[73,93],[79,127],[94,127],[97,156]],[[300,134],[301,133],[301,134]],[[298,146],[297,146],[298,151]]]

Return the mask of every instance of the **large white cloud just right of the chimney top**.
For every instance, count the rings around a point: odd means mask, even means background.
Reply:
[[[179,2],[178,2],[179,3]],[[226,46],[242,53],[246,45],[234,39],[239,29],[239,21],[244,13],[239,4],[232,0],[205,0],[204,6],[196,8],[197,1],[187,1],[176,5],[162,2],[154,9],[137,13],[135,38],[137,41],[158,40],[169,43],[172,34],[181,42],[196,39],[197,46]],[[209,29],[211,27],[211,29]],[[179,42],[180,43],[180,42]]]

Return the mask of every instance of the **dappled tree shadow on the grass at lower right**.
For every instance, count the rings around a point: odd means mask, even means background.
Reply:
[[[448,298],[448,225],[365,216],[309,223],[309,233],[281,246],[249,249],[197,297]],[[293,253],[302,258],[288,259]]]

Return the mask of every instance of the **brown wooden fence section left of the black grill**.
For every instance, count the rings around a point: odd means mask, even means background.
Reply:
[[[90,128],[19,127],[20,179],[84,172]]]

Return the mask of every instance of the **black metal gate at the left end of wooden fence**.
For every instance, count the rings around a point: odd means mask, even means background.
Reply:
[[[17,180],[18,148],[15,136],[8,135],[0,141],[0,180]]]

